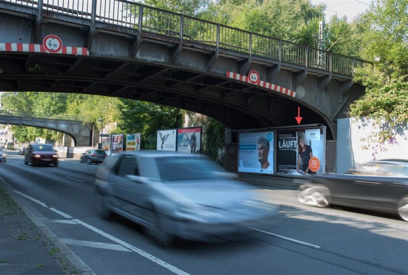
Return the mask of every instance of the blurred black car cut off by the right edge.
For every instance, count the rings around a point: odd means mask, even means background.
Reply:
[[[341,205],[398,214],[408,221],[408,161],[370,161],[345,174],[304,179],[297,198],[318,207]]]

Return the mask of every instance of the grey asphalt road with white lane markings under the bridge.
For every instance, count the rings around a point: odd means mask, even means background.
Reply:
[[[93,207],[97,165],[24,165],[16,152],[0,177],[96,274],[408,274],[408,223],[394,216],[300,205],[295,190],[253,188],[281,205],[252,239],[160,246],[136,224]]]

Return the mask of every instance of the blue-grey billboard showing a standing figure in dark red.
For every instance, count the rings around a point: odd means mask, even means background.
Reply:
[[[177,151],[191,154],[200,154],[201,127],[177,129]]]

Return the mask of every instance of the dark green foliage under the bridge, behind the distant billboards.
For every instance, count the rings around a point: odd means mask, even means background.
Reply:
[[[118,132],[141,133],[142,149],[156,149],[159,129],[177,128],[183,124],[180,109],[158,104],[119,99]]]

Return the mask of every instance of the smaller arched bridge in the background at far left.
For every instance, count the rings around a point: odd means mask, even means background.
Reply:
[[[0,124],[38,127],[62,132],[63,146],[94,146],[99,139],[93,125],[85,124],[80,116],[58,115],[46,117],[35,113],[0,111]]]

